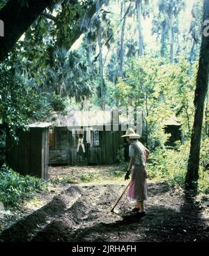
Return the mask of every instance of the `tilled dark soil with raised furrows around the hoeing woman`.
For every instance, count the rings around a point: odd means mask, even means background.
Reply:
[[[116,211],[111,207],[125,182],[70,185],[38,211],[6,229],[1,241],[209,241],[208,209],[165,183],[148,181],[146,217],[139,220],[127,210],[124,197]]]

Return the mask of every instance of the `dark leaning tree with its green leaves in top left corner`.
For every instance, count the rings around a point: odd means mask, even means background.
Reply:
[[[58,14],[55,17],[45,9],[50,7],[49,9],[52,11],[56,3],[60,3],[61,11],[56,11]],[[3,20],[5,34],[0,37],[0,62],[6,58],[22,34],[40,15],[42,18],[39,23],[44,18],[54,22],[54,29],[52,29],[54,34],[51,31],[48,33],[56,38],[57,47],[68,51],[88,27],[95,8],[96,1],[93,0],[9,0],[0,10],[0,20]],[[42,30],[37,25],[36,28],[37,31]],[[47,28],[45,29],[47,30]]]

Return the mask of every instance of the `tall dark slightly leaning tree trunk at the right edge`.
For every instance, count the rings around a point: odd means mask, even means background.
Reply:
[[[203,20],[209,17],[209,0],[204,0]],[[194,124],[192,128],[189,160],[187,165],[187,175],[185,188],[196,188],[199,178],[199,155],[201,147],[201,130],[203,125],[203,111],[206,94],[208,92],[209,76],[209,37],[202,36],[201,51],[199,58],[199,69],[196,77],[196,90],[194,96]]]

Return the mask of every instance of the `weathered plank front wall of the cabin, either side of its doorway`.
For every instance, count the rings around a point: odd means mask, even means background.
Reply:
[[[120,145],[123,145],[123,131],[100,131],[100,145],[86,148],[86,164],[113,164]],[[72,131],[67,127],[55,127],[55,146],[49,148],[49,164],[79,164],[77,145],[72,141]]]

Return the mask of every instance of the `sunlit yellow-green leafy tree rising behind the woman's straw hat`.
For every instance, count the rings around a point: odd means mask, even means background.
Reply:
[[[178,116],[185,138],[192,125],[194,79],[189,76],[189,62],[179,58],[168,64],[166,59],[140,57],[125,66],[126,78],[119,79],[113,89],[121,106],[140,106],[144,117],[144,133],[150,149],[164,145],[164,122]]]

